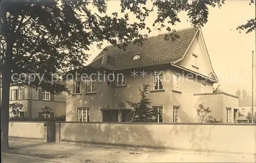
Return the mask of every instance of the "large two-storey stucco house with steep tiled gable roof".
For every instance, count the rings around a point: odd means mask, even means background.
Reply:
[[[187,28],[177,34],[174,41],[161,34],[148,38],[142,46],[129,44],[126,51],[107,46],[108,51],[102,51],[84,69],[88,75],[97,73],[93,72],[96,69],[105,75],[67,81],[73,94],[67,95],[66,121],[127,122],[131,108],[126,101],[139,102],[138,86],[148,83],[147,98],[160,112],[157,123],[200,122],[199,104],[210,107],[211,114],[224,123],[235,122],[238,97],[212,93],[218,78],[201,29]],[[112,71],[115,81],[104,80]]]

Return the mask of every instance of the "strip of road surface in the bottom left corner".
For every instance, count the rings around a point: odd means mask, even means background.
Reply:
[[[49,163],[48,161],[40,161],[38,159],[25,159],[13,156],[2,155],[2,163]]]

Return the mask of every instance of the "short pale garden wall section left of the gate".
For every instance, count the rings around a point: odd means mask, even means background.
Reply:
[[[45,132],[42,122],[9,122],[9,136],[43,139]]]

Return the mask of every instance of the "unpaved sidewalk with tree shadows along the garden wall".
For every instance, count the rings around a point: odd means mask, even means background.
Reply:
[[[37,141],[9,140],[10,154],[43,158],[55,162],[255,162],[255,156],[207,155],[169,151],[135,150],[124,148],[87,146],[81,144],[55,144]]]

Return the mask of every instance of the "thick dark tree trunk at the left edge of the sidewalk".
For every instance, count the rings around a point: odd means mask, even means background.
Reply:
[[[10,84],[11,84],[11,68],[8,63],[2,67],[2,101],[1,101],[1,150],[5,152],[9,148],[8,132],[9,132],[9,103],[10,103]]]

